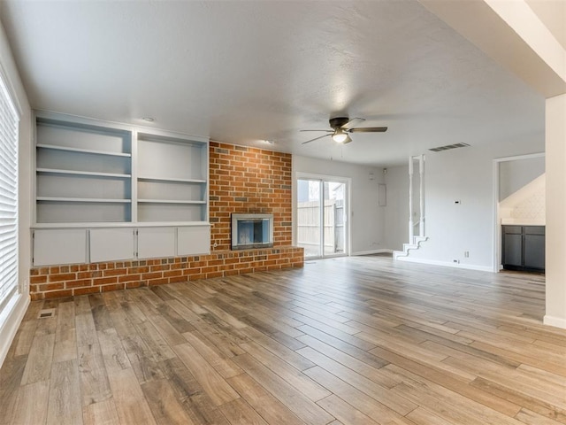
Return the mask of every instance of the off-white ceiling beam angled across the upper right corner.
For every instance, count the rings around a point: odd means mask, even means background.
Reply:
[[[566,93],[566,50],[524,0],[419,2],[544,97]]]

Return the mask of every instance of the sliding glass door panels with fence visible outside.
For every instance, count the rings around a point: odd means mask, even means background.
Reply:
[[[348,183],[297,180],[297,245],[305,258],[348,255]]]

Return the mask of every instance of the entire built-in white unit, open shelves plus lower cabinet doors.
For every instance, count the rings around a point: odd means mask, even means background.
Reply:
[[[34,265],[210,252],[208,146],[208,138],[38,112]],[[83,230],[84,252],[71,255],[65,243],[60,255],[46,250],[73,236],[76,251]]]

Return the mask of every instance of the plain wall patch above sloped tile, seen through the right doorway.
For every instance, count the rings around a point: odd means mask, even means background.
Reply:
[[[509,197],[544,172],[544,157],[501,162],[499,165],[499,200]]]

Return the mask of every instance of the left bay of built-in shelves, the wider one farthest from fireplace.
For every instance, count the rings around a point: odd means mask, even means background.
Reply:
[[[40,117],[36,124],[37,223],[131,221],[132,133]]]

